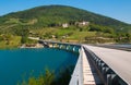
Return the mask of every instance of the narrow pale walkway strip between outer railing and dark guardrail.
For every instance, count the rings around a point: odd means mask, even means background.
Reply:
[[[83,50],[83,49],[82,49]],[[83,62],[83,85],[96,85],[102,84],[94,66],[88,61],[85,51],[82,52],[82,62]]]

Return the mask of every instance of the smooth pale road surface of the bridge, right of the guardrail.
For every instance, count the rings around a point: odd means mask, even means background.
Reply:
[[[123,81],[131,84],[131,52],[84,45],[109,65]]]

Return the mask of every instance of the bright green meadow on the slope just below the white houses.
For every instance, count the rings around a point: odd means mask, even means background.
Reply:
[[[66,41],[70,41],[70,40],[74,40],[74,41],[79,41],[79,40],[84,40],[85,37],[94,37],[96,36],[96,32],[80,32],[79,29],[73,29],[73,28],[39,28],[39,29],[32,29],[33,33],[38,34],[39,36],[46,35],[47,33],[49,35],[57,35],[59,36],[59,38],[57,38],[58,40],[60,40],[62,38],[62,36],[67,36],[67,38],[64,38]]]

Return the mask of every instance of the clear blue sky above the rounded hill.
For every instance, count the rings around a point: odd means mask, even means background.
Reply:
[[[131,24],[131,0],[0,0],[0,16],[50,4],[70,5]]]

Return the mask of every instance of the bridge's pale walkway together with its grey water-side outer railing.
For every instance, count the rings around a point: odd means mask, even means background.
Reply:
[[[94,66],[92,66],[91,62],[87,59],[87,56],[85,54],[84,49],[82,48],[69,85],[97,84],[102,84],[102,81],[99,80]]]

